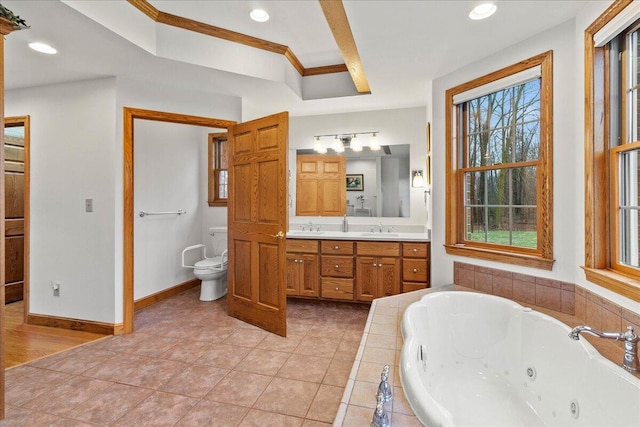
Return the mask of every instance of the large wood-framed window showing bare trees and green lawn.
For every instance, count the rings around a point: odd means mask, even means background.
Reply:
[[[551,63],[447,91],[448,253],[551,269]]]

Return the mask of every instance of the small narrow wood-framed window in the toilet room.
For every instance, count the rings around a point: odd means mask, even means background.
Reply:
[[[209,206],[226,206],[229,189],[226,133],[209,134]]]

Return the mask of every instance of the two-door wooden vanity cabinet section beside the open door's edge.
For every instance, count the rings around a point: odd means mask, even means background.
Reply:
[[[317,240],[287,240],[287,295],[319,297]]]

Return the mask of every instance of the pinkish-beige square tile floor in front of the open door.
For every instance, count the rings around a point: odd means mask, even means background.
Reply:
[[[135,332],[6,371],[4,426],[327,426],[367,306],[290,301],[287,338],[199,288],[136,312]]]

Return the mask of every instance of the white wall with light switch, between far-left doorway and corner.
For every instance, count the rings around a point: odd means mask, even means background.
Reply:
[[[31,313],[114,320],[115,105],[115,79],[5,93],[7,116],[31,116]]]

